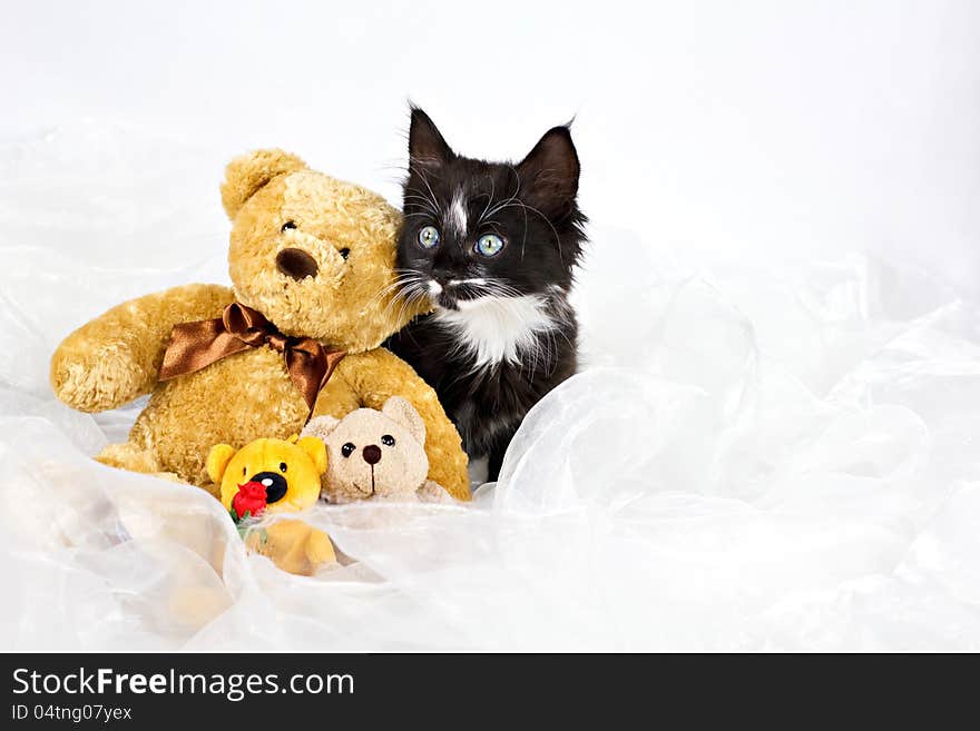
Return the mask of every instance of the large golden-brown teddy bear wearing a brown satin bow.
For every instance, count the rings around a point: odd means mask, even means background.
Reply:
[[[424,304],[399,299],[401,216],[384,199],[281,150],[228,165],[233,289],[186,285],[125,303],[69,335],[51,385],[100,412],[151,394],[129,441],[98,460],[207,483],[214,444],[285,438],[311,416],[408,399],[428,477],[469,500],[467,457],[435,393],[381,343]]]

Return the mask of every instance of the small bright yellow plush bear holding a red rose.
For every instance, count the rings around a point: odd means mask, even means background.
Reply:
[[[237,451],[218,444],[207,455],[207,472],[220,485],[222,504],[236,523],[267,513],[297,512],[320,500],[326,447],[312,436],[255,439]],[[308,576],[337,560],[326,533],[296,520],[246,532],[245,542],[293,574]]]

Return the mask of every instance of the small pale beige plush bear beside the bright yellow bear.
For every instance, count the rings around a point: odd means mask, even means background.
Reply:
[[[303,436],[320,437],[326,445],[323,496],[331,503],[450,497],[425,478],[425,423],[404,398],[392,396],[381,411],[359,408],[342,419],[317,416]]]

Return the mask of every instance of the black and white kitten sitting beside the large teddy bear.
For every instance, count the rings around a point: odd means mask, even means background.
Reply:
[[[555,127],[517,164],[462,157],[412,109],[409,159],[400,281],[435,309],[388,345],[435,389],[494,481],[525,415],[576,371],[578,155],[568,127]]]

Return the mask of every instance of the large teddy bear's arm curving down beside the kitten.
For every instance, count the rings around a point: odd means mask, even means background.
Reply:
[[[359,406],[380,411],[391,396],[405,398],[425,422],[429,480],[445,487],[457,500],[470,498],[467,453],[462,450],[459,432],[445,415],[435,392],[412,366],[384,348],[375,348],[349,355],[337,366],[334,377],[337,375],[353,389],[359,403],[340,413],[325,413],[342,417]]]

